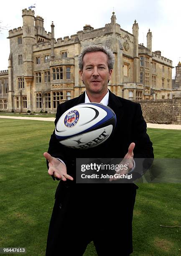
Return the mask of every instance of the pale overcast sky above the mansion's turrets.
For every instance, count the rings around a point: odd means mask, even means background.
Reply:
[[[35,16],[44,18],[47,32],[51,32],[51,21],[54,21],[55,38],[71,36],[83,30],[85,24],[90,24],[94,29],[104,27],[110,23],[114,8],[117,23],[122,29],[132,33],[134,20],[137,20],[139,44],[146,46],[146,34],[150,28],[152,51],[160,50],[162,56],[173,61],[173,67],[177,66],[181,57],[181,0],[3,1],[0,8],[1,26],[7,26],[8,30],[22,26],[22,9],[28,9],[34,3]],[[0,70],[8,69],[8,30],[1,30],[0,33]]]

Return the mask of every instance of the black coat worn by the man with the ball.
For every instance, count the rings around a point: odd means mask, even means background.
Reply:
[[[66,110],[77,104],[84,103],[84,100],[85,92],[79,97],[59,105],[55,125]],[[112,182],[112,184],[75,184],[76,158],[124,158],[132,142],[135,143],[134,158],[154,157],[152,143],[146,133],[146,123],[143,119],[140,104],[117,97],[110,92],[108,106],[114,110],[117,124],[114,133],[101,145],[86,150],[71,149],[62,146],[56,140],[55,131],[51,136],[48,153],[54,157],[59,157],[65,162],[67,173],[74,177],[74,181],[61,181],[56,189],[56,203],[48,233],[46,255],[56,255],[56,253],[48,254],[48,251],[51,252],[52,248],[56,247],[55,241],[57,241],[57,237],[60,237],[60,229],[64,230],[62,231],[63,233],[66,232],[61,224],[57,224],[60,218],[61,223],[65,223],[69,218],[73,223],[82,223],[82,219],[77,217],[83,216],[82,212],[84,212],[84,216],[91,218],[91,223],[94,226],[99,226],[100,220],[101,223],[104,223],[104,221],[107,222],[107,219],[119,216],[119,219],[124,221],[117,223],[115,229],[110,230],[110,232],[115,233],[119,230],[122,251],[126,253],[133,251],[132,218],[136,189],[138,187],[133,183],[119,184],[117,182]],[[66,210],[63,215],[57,213],[57,205],[65,206]],[[99,217],[97,218],[97,216]],[[84,219],[83,223],[86,226],[88,225],[85,224],[88,223],[86,219]],[[76,227],[74,227],[74,230],[76,230]],[[73,231],[71,230],[71,232]]]

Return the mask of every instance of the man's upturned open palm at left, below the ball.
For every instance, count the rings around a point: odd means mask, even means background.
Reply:
[[[63,181],[66,181],[66,179],[73,180],[73,177],[71,177],[69,174],[66,172],[66,165],[61,163],[58,159],[55,157],[51,156],[47,152],[43,153],[43,156],[48,160],[49,164],[49,169],[48,169],[48,174],[49,175],[54,175],[55,178],[61,179]]]

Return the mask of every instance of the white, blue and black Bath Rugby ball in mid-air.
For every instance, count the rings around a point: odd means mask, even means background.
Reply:
[[[59,118],[55,135],[67,147],[88,149],[105,142],[114,131],[116,115],[101,103],[82,103]]]

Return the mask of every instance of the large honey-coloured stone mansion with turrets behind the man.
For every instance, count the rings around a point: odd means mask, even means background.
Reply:
[[[170,99],[172,61],[152,52],[152,33],[147,33],[147,47],[138,44],[138,23],[133,33],[116,23],[115,13],[105,27],[85,25],[83,31],[54,38],[43,27],[43,18],[33,10],[22,11],[23,27],[9,31],[10,56],[8,73],[0,73],[0,110],[56,112],[57,105],[79,96],[85,87],[79,77],[78,56],[91,44],[110,47],[115,66],[109,89],[130,100]],[[0,87],[0,88],[1,88]],[[5,102],[6,101],[6,105]]]

